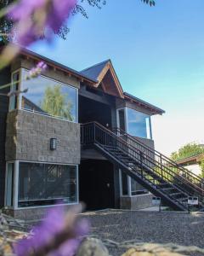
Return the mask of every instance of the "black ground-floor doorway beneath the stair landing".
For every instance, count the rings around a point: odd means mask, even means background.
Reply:
[[[87,210],[114,208],[114,171],[107,160],[82,160],[79,166],[79,200]]]

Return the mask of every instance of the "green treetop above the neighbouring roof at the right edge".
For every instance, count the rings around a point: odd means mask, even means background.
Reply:
[[[194,156],[197,154],[203,154],[204,153],[204,147],[201,147],[201,145],[198,145],[196,143],[188,143],[184,145],[184,147],[179,148],[177,152],[173,152],[171,154],[172,160],[182,160],[184,158]]]

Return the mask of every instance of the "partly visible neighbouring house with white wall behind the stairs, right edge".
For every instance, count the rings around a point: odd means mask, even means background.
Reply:
[[[183,166],[195,175],[201,175],[201,161],[204,160],[204,154],[196,154],[186,157],[182,160],[177,160],[178,165]]]

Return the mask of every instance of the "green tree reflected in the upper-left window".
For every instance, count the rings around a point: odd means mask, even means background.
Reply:
[[[61,92],[60,85],[49,86],[45,90],[40,106],[46,113],[73,121],[71,114],[72,104],[67,101],[67,94]]]

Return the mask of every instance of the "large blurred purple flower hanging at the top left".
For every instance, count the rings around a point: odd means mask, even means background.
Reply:
[[[52,32],[59,32],[76,3],[77,0],[20,0],[8,13],[15,22],[14,40],[22,46],[39,38],[50,40]]]

